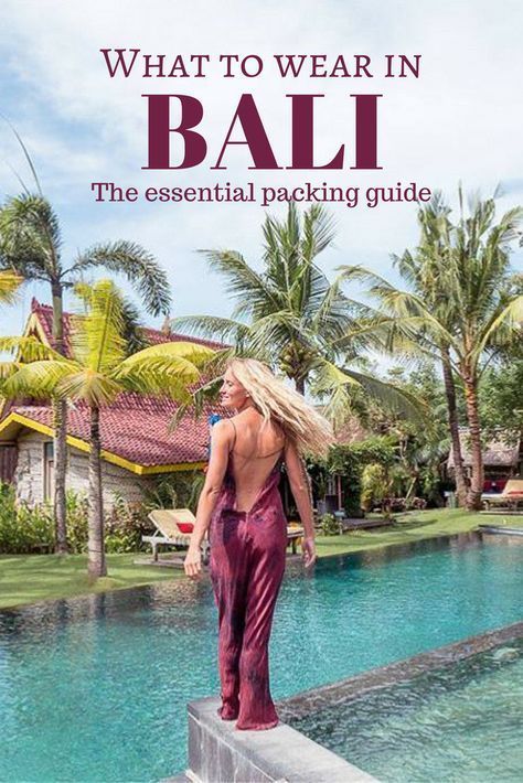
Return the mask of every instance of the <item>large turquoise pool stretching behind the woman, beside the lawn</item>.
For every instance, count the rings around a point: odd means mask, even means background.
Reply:
[[[521,540],[461,536],[288,567],[276,699],[522,619]],[[158,781],[218,693],[209,581],[0,612],[0,780]]]

